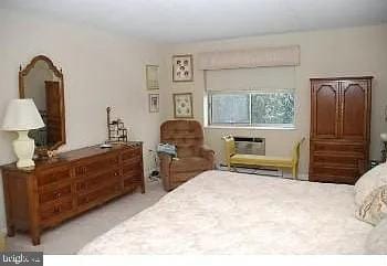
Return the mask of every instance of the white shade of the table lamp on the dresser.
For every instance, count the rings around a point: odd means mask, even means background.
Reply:
[[[2,130],[21,131],[44,127],[32,99],[12,99],[6,110]]]

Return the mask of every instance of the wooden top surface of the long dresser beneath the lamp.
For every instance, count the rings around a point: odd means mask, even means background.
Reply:
[[[76,161],[76,160],[80,160],[82,158],[105,155],[105,153],[109,153],[112,151],[128,149],[130,147],[132,148],[138,147],[138,146],[142,146],[142,143],[143,142],[140,142],[140,141],[128,141],[126,143],[112,145],[112,148],[101,148],[100,145],[96,145],[96,146],[91,146],[91,147],[85,147],[85,148],[81,148],[81,149],[61,152],[55,158],[35,160],[34,161],[35,167],[33,169],[18,169],[15,162],[1,166],[1,169],[13,170],[13,171],[23,171],[23,172],[33,172],[40,168],[45,168],[45,167],[50,167],[50,166],[54,166],[54,164],[60,166],[62,163]]]

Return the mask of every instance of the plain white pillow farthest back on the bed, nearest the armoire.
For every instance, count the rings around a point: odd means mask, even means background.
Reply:
[[[387,163],[380,163],[363,174],[355,184],[355,203],[360,206],[374,190],[387,184]]]

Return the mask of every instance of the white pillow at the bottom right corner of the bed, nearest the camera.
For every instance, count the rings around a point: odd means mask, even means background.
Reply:
[[[387,255],[387,219],[369,232],[365,247],[368,254]]]

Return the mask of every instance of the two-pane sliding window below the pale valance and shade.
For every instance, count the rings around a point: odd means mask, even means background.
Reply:
[[[294,127],[294,89],[208,93],[208,124]]]

